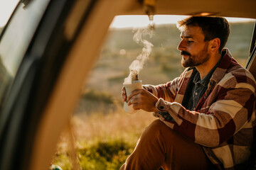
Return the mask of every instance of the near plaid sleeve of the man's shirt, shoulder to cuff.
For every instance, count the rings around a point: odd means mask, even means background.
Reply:
[[[255,80],[251,74],[225,75],[199,111],[188,111],[180,103],[164,98],[159,99],[156,108],[174,118],[161,118],[170,128],[200,145],[217,147],[250,123],[255,111]]]

